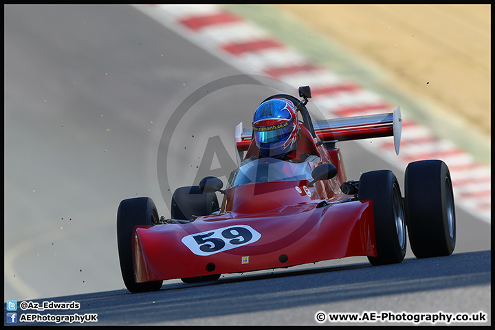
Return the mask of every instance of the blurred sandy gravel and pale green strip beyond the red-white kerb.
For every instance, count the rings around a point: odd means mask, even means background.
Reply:
[[[490,5],[228,8],[490,164]]]

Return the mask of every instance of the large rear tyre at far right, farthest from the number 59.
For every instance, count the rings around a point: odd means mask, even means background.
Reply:
[[[412,162],[406,168],[404,183],[412,253],[416,258],[452,254],[456,217],[448,166],[441,160]]]

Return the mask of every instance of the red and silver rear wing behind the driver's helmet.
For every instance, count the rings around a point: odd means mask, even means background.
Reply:
[[[360,115],[356,117],[315,120],[314,131],[322,142],[337,142],[393,136],[395,153],[399,155],[401,139],[400,107],[391,113]],[[247,151],[252,139],[252,127],[243,128],[242,122],[235,129],[237,151]]]

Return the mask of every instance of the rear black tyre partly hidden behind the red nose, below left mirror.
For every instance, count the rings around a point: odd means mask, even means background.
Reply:
[[[173,193],[170,217],[189,220],[193,216],[210,215],[217,208],[219,202],[214,192],[203,192],[199,186],[180,187]]]

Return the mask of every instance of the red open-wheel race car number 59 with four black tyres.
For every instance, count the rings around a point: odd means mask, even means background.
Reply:
[[[299,96],[303,99],[277,94],[262,104],[282,100],[298,113],[295,140],[301,157],[263,155],[254,138],[259,132],[274,135],[287,122],[268,129],[243,129],[241,123],[235,130],[239,167],[230,173],[225,190],[216,177],[177,188],[170,218],[160,217],[148,197],[120,203],[118,252],[130,292],[155,291],[172,278],[215,281],[221,274],[349,256],[367,256],[372,265],[400,263],[406,228],[417,258],[452,253],[454,197],[444,162],[408,164],[404,197],[391,170],[347,179],[336,142],[393,136],[398,154],[400,109],[312,122],[306,107],[309,87],[300,87]],[[221,203],[217,192],[223,195]]]

